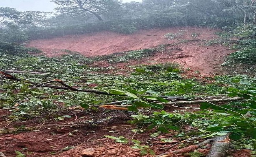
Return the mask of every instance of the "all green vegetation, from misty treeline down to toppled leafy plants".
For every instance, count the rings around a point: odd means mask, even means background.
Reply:
[[[246,100],[228,102],[222,105],[204,103],[200,111],[192,113],[154,112],[152,115],[133,115],[132,124],[143,132],[155,128],[168,133],[176,130],[179,137],[190,137],[182,127],[198,128],[193,135],[204,138],[214,135],[229,135],[235,140],[236,148],[256,149],[256,26],[254,0],[143,0],[143,2],[121,3],[117,0],[53,0],[60,7],[54,16],[44,12],[19,12],[12,8],[0,7],[0,70],[12,69],[38,71],[47,75],[15,74],[21,82],[0,80],[0,108],[19,105],[11,120],[27,120],[34,117],[49,117],[49,112],[64,106],[102,104],[127,100],[129,110],[150,107],[158,110],[167,103],[159,97],[195,97],[224,95],[243,97]],[[80,2],[80,3],[79,3]],[[95,7],[96,6],[96,7]],[[36,38],[52,38],[68,34],[82,34],[96,31],[134,33],[139,29],[174,26],[198,26],[222,28],[221,43],[236,49],[223,66],[233,68],[234,73],[250,75],[218,76],[208,78],[214,83],[184,79],[184,69],[176,64],[137,65],[126,76],[115,75],[119,69],[114,66],[95,67],[94,61],[109,63],[127,62],[153,55],[158,49],[142,49],[102,57],[87,58],[69,52],[58,58],[35,55],[40,51],[26,48],[23,42]],[[67,50],[63,50],[67,51]],[[29,53],[28,53],[29,52]],[[136,55],[135,55],[136,54]],[[111,70],[112,73],[104,73]],[[69,86],[106,91],[113,95],[98,97],[95,93],[63,92],[59,89],[36,88],[31,82],[42,83],[61,79]],[[142,81],[143,80],[143,81]],[[46,94],[47,93],[47,94]],[[61,94],[60,94],[61,93]],[[24,101],[24,99],[28,100]],[[208,110],[210,109],[210,110]],[[52,113],[51,113],[52,114]],[[1,132],[0,132],[1,133]],[[112,137],[114,138],[114,137]],[[147,153],[147,152],[146,152]]]

